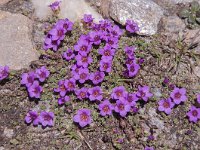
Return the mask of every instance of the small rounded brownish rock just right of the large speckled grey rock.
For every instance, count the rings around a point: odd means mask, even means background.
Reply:
[[[185,23],[178,16],[169,16],[162,19],[162,26],[166,32],[180,32],[185,29]]]

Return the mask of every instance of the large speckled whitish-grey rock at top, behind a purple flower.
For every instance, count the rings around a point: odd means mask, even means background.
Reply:
[[[127,19],[132,19],[140,27],[139,34],[153,35],[157,32],[163,10],[150,0],[111,0],[109,14],[123,25]]]

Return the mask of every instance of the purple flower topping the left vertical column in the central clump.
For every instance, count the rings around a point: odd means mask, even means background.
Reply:
[[[74,46],[74,50],[77,51],[82,56],[87,56],[90,52],[92,45],[86,40],[79,40],[78,43]]]

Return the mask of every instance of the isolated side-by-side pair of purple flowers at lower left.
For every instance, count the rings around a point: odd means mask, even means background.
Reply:
[[[43,127],[53,126],[54,113],[42,111],[38,114],[37,111],[29,111],[25,117],[25,122],[27,124],[33,123],[34,126],[41,124]]]

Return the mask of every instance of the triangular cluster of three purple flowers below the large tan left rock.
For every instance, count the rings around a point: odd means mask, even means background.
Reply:
[[[39,82],[44,82],[49,75],[49,70],[47,70],[45,66],[42,66],[36,69],[35,72],[23,73],[21,76],[21,84],[26,86],[31,98],[40,98],[43,88],[40,86]]]

